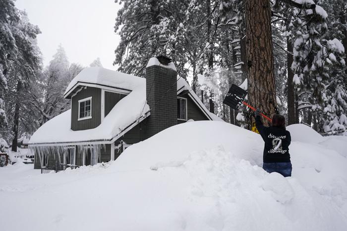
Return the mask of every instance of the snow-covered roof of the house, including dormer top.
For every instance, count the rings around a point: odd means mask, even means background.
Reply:
[[[146,79],[100,67],[83,69],[68,85],[64,93],[70,98],[84,86],[113,88],[127,96],[116,103],[101,124],[94,128],[72,131],[71,110],[67,110],[41,126],[31,137],[30,145],[74,145],[111,143],[150,115],[146,101]],[[220,120],[210,113],[188,83],[177,77],[177,94],[186,93],[210,120]],[[129,106],[131,105],[131,106]]]

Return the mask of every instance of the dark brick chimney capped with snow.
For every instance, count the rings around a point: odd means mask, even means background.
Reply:
[[[153,57],[146,67],[146,97],[151,109],[147,136],[177,124],[177,72],[172,60],[164,55]]]

